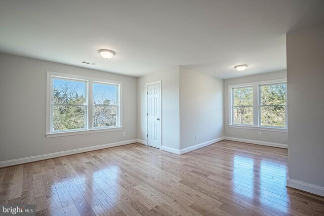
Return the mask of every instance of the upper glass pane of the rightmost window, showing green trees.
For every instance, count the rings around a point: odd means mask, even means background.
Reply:
[[[261,85],[261,105],[285,105],[286,83]]]

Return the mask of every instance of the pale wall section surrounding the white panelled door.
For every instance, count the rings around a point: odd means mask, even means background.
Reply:
[[[141,76],[137,82],[137,138],[146,141],[147,114],[145,84],[162,80],[162,145],[179,149],[179,67]]]

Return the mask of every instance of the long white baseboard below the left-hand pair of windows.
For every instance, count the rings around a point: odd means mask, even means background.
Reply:
[[[67,151],[60,151],[60,152],[54,152],[54,153],[49,153],[49,154],[42,154],[42,155],[36,155],[36,156],[31,156],[31,157],[18,158],[18,159],[13,159],[13,160],[5,160],[5,161],[0,161],[0,168],[5,167],[5,166],[13,166],[13,165],[21,164],[21,163],[29,163],[29,162],[38,161],[38,160],[62,157],[62,156],[66,156],[66,155],[77,154],[77,153],[82,153],[82,152],[87,152],[87,151],[94,151],[94,150],[98,150],[98,149],[105,149],[105,148],[114,147],[114,146],[122,146],[122,145],[127,145],[127,144],[131,144],[131,143],[136,143],[136,142],[137,142],[137,139],[127,140],[127,141],[103,144],[103,145],[98,145],[98,146],[90,146],[90,147],[85,147],[85,148],[72,149],[72,150],[67,150]]]

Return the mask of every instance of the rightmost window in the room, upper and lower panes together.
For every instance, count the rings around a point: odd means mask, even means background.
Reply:
[[[287,127],[287,84],[259,85],[259,126]]]

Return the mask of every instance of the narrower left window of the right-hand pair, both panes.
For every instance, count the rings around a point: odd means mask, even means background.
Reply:
[[[253,87],[232,89],[232,124],[253,125]]]

